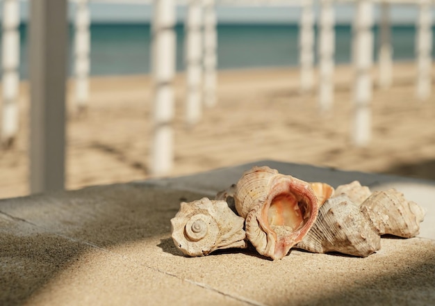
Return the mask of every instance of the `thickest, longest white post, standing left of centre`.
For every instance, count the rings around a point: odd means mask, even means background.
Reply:
[[[175,6],[174,0],[155,0],[151,26],[151,65],[154,81],[153,140],[151,147],[151,174],[165,175],[174,163],[172,119],[174,117],[175,74]]]

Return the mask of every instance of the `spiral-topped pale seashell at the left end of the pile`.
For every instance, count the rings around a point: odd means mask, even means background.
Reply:
[[[227,202],[201,200],[181,202],[171,219],[172,239],[181,252],[204,256],[226,248],[246,248],[244,219],[229,209]]]

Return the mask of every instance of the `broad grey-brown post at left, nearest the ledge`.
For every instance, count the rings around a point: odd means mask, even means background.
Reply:
[[[30,1],[31,193],[64,188],[67,1]]]

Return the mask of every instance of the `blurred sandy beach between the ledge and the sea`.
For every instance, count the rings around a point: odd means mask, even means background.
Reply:
[[[331,113],[321,115],[315,93],[299,93],[296,68],[220,71],[218,102],[186,127],[184,75],[177,75],[174,170],[170,176],[259,159],[435,179],[435,95],[419,102],[414,63],[396,63],[393,86],[375,86],[372,141],[353,147],[352,69],[336,67]],[[376,77],[376,70],[373,71]],[[149,177],[151,79],[92,77],[85,115],[68,84],[66,188]],[[28,84],[21,85],[19,136],[0,150],[0,198],[28,194]]]

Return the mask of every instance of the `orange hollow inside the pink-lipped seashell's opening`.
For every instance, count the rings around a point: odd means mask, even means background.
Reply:
[[[286,226],[299,230],[304,220],[309,218],[309,204],[303,198],[296,198],[293,193],[281,193],[272,199],[268,210],[269,225]]]

